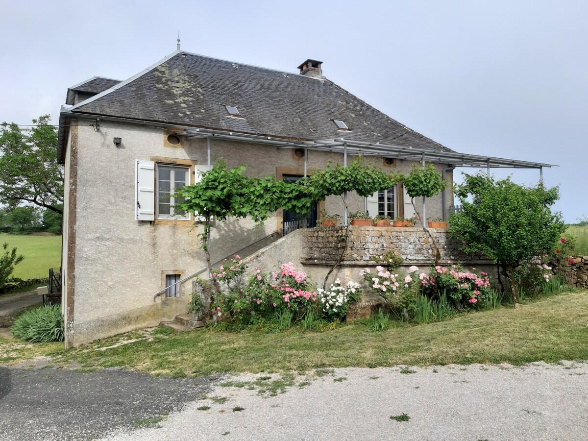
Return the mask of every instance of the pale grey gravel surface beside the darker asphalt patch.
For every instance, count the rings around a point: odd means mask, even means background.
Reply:
[[[588,439],[588,363],[335,369],[298,377],[298,386],[277,396],[247,383],[260,376],[232,379],[240,387],[217,385],[209,392],[216,401],[190,403],[158,429],[107,439]]]

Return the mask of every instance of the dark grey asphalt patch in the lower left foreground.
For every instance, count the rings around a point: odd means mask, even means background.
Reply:
[[[154,426],[211,387],[209,378],[153,378],[114,369],[0,368],[0,440],[88,440]]]

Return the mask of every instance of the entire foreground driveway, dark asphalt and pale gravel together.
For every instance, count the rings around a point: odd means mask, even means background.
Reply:
[[[587,392],[575,362],[203,379],[0,368],[0,439],[586,440]]]

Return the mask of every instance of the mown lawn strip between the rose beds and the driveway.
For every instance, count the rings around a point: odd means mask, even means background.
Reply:
[[[348,366],[520,365],[587,360],[587,342],[588,291],[576,291],[529,302],[517,310],[502,306],[427,325],[396,322],[384,332],[371,332],[360,323],[320,332],[296,327],[275,334],[215,329],[173,334],[155,329],[68,352],[62,343],[23,345],[0,340],[0,363],[49,355],[55,367],[78,362],[83,370],[118,366],[173,377]]]

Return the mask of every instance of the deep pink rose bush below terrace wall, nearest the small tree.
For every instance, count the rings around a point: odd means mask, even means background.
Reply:
[[[451,262],[447,262],[451,263]],[[443,293],[455,303],[462,306],[473,306],[484,300],[490,290],[490,278],[483,271],[466,271],[460,265],[450,267],[437,265],[429,275],[420,273],[419,279],[423,292],[430,297],[442,296]]]

